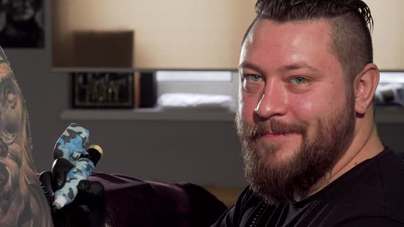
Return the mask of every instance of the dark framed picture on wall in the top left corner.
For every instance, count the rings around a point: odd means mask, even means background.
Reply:
[[[0,46],[44,48],[44,0],[0,1]]]

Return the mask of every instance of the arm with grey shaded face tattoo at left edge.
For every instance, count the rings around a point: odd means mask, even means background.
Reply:
[[[31,150],[25,101],[0,47],[0,226],[53,226]]]

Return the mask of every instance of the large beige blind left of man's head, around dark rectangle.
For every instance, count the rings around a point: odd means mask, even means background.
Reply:
[[[236,68],[252,0],[55,0],[54,65],[73,31],[135,31],[136,68]],[[67,54],[66,54],[67,53]]]

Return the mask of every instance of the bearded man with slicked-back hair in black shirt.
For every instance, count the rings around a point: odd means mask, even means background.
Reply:
[[[404,226],[404,164],[374,119],[360,0],[258,0],[236,125],[249,187],[215,226]]]

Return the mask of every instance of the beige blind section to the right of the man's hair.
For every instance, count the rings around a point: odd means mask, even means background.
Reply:
[[[365,0],[373,14],[375,63],[381,70],[404,70],[404,1]]]

